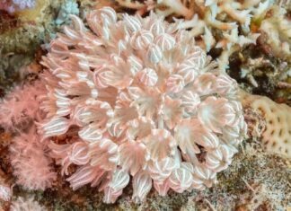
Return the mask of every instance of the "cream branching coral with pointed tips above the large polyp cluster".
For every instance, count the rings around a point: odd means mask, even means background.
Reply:
[[[125,7],[137,9],[137,13],[154,10],[163,16],[176,14],[188,19],[181,28],[190,29],[190,34],[199,45],[209,51],[221,48],[218,58],[220,69],[228,66],[228,58],[246,44],[255,44],[259,33],[250,30],[251,20],[260,19],[271,1],[232,0],[147,0],[136,8],[128,1],[117,1]]]

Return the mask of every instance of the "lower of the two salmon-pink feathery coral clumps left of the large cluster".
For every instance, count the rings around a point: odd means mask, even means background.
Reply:
[[[56,179],[56,173],[50,164],[51,158],[46,154],[46,147],[40,143],[35,127],[28,134],[15,136],[10,145],[10,160],[16,183],[25,189],[47,189]]]

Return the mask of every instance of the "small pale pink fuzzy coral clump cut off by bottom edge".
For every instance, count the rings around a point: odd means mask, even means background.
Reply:
[[[17,200],[13,201],[10,207],[10,211],[46,211],[45,207],[40,206],[37,201],[33,198],[22,198],[19,197]]]

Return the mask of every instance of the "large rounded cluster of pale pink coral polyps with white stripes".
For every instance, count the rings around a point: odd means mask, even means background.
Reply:
[[[154,13],[118,20],[104,7],[88,14],[90,29],[72,20],[43,58],[48,116],[39,131],[77,128],[73,144],[49,145],[64,173],[78,166],[73,189],[91,183],[112,203],[130,176],[136,201],[151,187],[163,196],[211,187],[246,133],[235,81]]]

